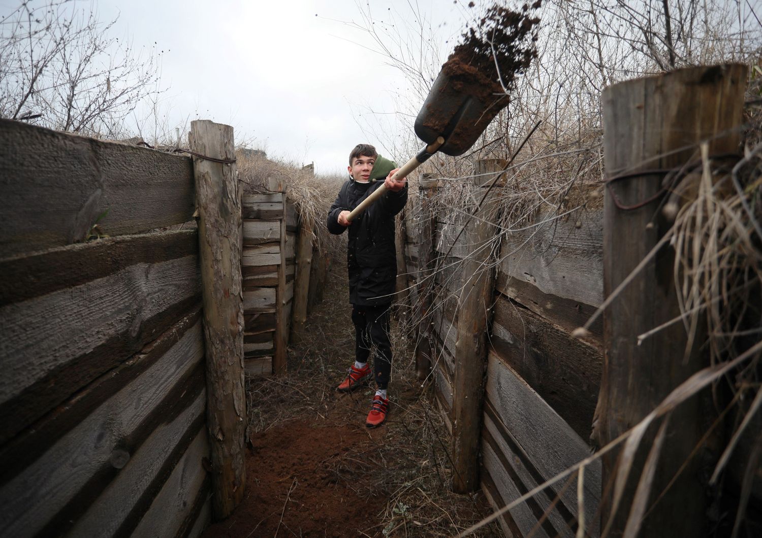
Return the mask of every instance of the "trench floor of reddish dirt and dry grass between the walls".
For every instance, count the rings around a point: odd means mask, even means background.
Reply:
[[[399,323],[386,423],[365,427],[370,388],[335,391],[354,360],[354,332],[346,264],[341,253],[332,259],[323,300],[292,339],[289,374],[248,384],[245,498],[206,538],[454,536],[490,513],[480,492],[450,492],[447,429]]]

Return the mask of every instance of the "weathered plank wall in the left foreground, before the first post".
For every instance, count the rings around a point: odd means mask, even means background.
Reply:
[[[5,120],[0,141],[0,534],[197,536],[191,159]],[[71,244],[106,209],[112,237]]]

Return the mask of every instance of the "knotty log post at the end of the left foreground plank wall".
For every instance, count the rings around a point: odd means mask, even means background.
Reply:
[[[191,150],[234,158],[233,128],[191,122]],[[242,189],[235,164],[194,156],[200,245],[203,333],[207,355],[207,425],[212,458],[212,507],[228,517],[243,498],[246,398],[241,282]]]

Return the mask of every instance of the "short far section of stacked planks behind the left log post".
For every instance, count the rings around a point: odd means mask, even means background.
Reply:
[[[286,193],[243,197],[244,365],[248,376],[273,372],[277,301],[290,323],[296,272],[296,234],[299,215]],[[286,263],[283,298],[277,297],[281,263],[280,230],[285,220]],[[286,330],[288,336],[288,329]],[[288,341],[288,338],[286,339]]]

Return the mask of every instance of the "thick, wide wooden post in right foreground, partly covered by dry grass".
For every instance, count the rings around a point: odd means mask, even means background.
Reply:
[[[609,183],[604,202],[604,294],[613,289],[652,250],[671,223],[658,211],[660,199],[637,205],[662,188],[664,173],[698,154],[697,142],[709,141],[709,154],[735,153],[741,132],[746,68],[743,65],[687,68],[666,75],[626,81],[603,94],[604,154],[607,177],[642,175]],[[715,138],[716,137],[716,138]],[[614,198],[616,196],[616,199]],[[683,323],[674,323],[638,342],[637,336],[679,315],[674,291],[674,251],[663,247],[604,313],[604,369],[598,403],[600,445],[632,428],[668,393],[706,366],[693,349],[684,361],[687,337]],[[703,343],[700,335],[696,339]],[[641,536],[700,536],[706,530],[706,489],[700,479],[702,462],[712,454],[694,456],[667,494],[652,507],[700,442],[703,424],[700,398],[672,415],[648,501]],[[636,454],[630,479],[616,514],[611,493],[601,499],[602,523],[620,536],[645,457],[655,431],[649,431]],[[618,454],[604,457],[604,487],[616,475]],[[609,489],[613,492],[613,489]]]

